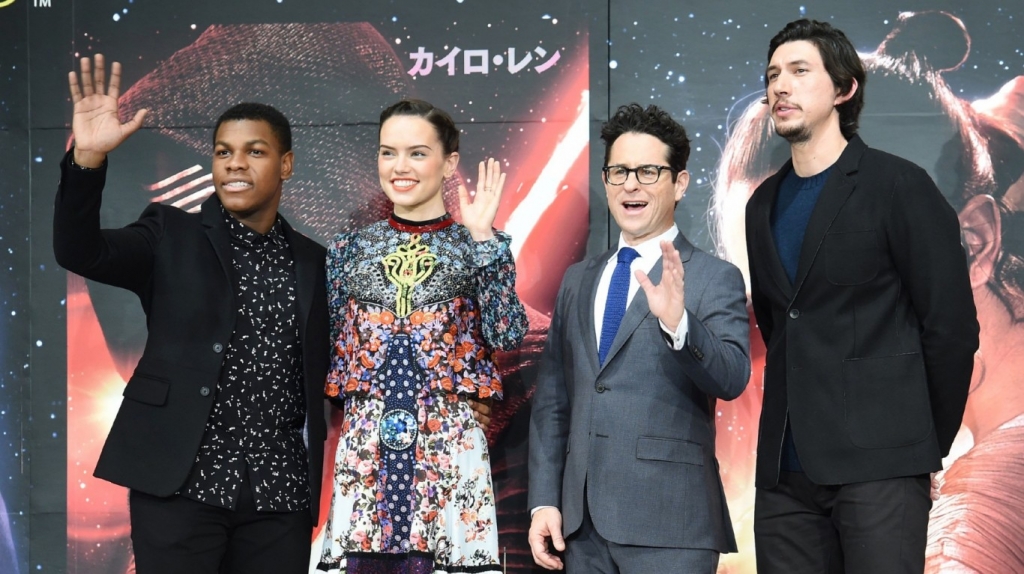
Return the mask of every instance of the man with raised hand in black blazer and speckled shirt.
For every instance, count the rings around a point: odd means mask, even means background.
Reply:
[[[316,523],[329,363],[326,250],[278,214],[288,120],[239,104],[214,131],[215,193],[198,214],[153,204],[101,229],[120,65],[70,75],[75,146],[61,162],[57,262],[135,293],[148,339],[96,465],[130,489],[139,574],[305,573]]]

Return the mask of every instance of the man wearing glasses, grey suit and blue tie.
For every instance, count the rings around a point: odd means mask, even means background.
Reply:
[[[601,139],[622,233],[558,293],[530,421],[530,549],[548,570],[714,573],[736,549],[715,402],[750,376],[743,280],[676,227],[681,125],[633,103]]]

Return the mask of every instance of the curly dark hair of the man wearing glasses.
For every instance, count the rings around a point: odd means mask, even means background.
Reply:
[[[672,168],[673,182],[676,181],[676,175],[686,169],[686,161],[690,159],[690,139],[686,137],[686,129],[660,107],[650,104],[644,108],[636,102],[618,106],[615,114],[601,126],[604,165],[608,165],[611,144],[625,133],[651,135],[669,146],[668,161]]]

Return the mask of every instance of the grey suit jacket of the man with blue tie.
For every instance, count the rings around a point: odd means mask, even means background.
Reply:
[[[715,458],[715,402],[746,386],[750,323],[733,265],[675,241],[688,334],[674,351],[643,290],[598,364],[597,282],[609,251],[570,267],[541,358],[529,432],[529,507],[557,506],[567,536],[584,493],[598,533],[620,544],[734,551]],[[657,283],[662,262],[649,276]],[[571,542],[570,542],[571,543]]]

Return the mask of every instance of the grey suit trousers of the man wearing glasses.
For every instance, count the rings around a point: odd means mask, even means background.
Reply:
[[[719,553],[616,544],[601,536],[584,492],[583,524],[565,540],[566,574],[715,574]]]

